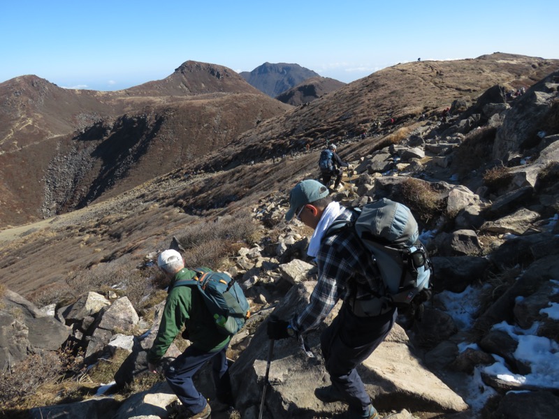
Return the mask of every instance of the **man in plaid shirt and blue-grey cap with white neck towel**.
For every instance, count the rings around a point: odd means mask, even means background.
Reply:
[[[359,312],[360,304],[366,304],[375,293],[381,293],[382,279],[375,262],[351,229],[326,235],[335,219],[353,221],[356,217],[353,212],[333,202],[326,186],[315,180],[297,184],[289,195],[289,205],[287,221],[296,216],[314,229],[307,254],[316,259],[319,276],[307,307],[291,321],[270,319],[268,337],[298,337],[317,328],[342,300],[339,313],[321,335],[321,351],[332,383],[317,388],[315,395],[323,402],[349,404],[349,418],[378,418],[356,367],[389,334],[396,309],[386,307],[379,315],[370,317],[354,314]]]

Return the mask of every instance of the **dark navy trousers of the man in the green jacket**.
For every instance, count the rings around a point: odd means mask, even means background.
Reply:
[[[229,370],[225,356],[227,346],[219,352],[206,352],[189,346],[176,360],[170,363],[165,372],[165,378],[167,378],[171,390],[175,392],[180,402],[191,414],[200,413],[208,403],[205,397],[196,390],[192,381],[192,376],[208,360],[212,362],[212,375],[217,399],[220,402],[232,404],[231,381],[229,380]]]

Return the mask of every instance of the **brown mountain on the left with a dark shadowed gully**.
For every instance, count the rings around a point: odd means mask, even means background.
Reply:
[[[223,66],[187,61],[123,91],[0,84],[0,226],[114,196],[289,109]]]

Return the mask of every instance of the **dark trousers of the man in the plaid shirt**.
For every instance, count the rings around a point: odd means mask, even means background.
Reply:
[[[356,367],[384,341],[396,320],[396,310],[375,317],[357,317],[343,304],[320,337],[324,365],[332,385],[346,395],[349,407],[365,409],[371,399]]]

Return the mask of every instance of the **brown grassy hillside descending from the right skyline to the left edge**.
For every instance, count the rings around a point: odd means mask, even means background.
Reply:
[[[184,173],[191,170],[196,159],[185,159],[181,168],[131,191],[117,195],[117,189],[113,189],[112,198],[98,200],[82,210],[0,232],[0,277],[8,288],[29,295],[50,283],[75,279],[82,270],[95,270],[121,256],[129,258],[128,268],[132,269],[132,260],[139,263],[147,253],[166,247],[170,237],[180,235],[185,226],[239,210],[252,211],[263,202],[285,204],[293,184],[303,177],[318,175],[321,142],[317,141],[310,154],[292,157],[289,143],[295,147],[294,139],[324,138],[328,134],[337,141],[347,138],[350,132],[358,132],[356,126],[368,126],[372,119],[393,115],[396,124],[383,127],[377,136],[340,146],[342,158],[354,160],[400,133],[404,135],[413,126],[430,124],[418,122],[414,112],[434,113],[456,98],[477,96],[496,83],[528,87],[540,74],[557,68],[558,60],[504,54],[475,60],[402,64],[279,117],[260,123],[251,119],[256,127],[239,135],[219,152],[219,157],[197,159],[200,166],[208,167],[216,162],[233,163],[228,170],[186,178]],[[241,114],[238,118],[242,119]],[[182,128],[178,121],[166,126],[169,138],[173,138],[169,127]],[[212,141],[211,130],[203,131],[202,126],[200,129],[196,142]],[[267,159],[282,151],[287,152],[284,159]],[[250,158],[254,158],[254,165],[238,165]]]

